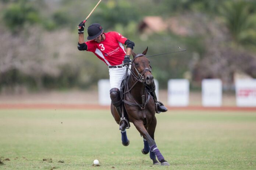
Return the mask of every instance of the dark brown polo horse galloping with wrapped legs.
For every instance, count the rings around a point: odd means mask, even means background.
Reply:
[[[143,53],[135,54],[132,52],[134,59],[131,64],[131,74],[128,77],[122,90],[122,100],[124,107],[129,118],[129,122],[132,122],[136,129],[143,137],[144,148],[143,154],[150,152],[150,159],[153,160],[154,165],[170,165],[161,155],[159,149],[154,141],[154,132],[156,129],[156,106],[153,97],[150,95],[148,86],[153,84],[153,75],[149,59],[146,58],[147,49]],[[128,67],[128,66],[127,66]],[[111,104],[111,113],[115,121],[119,124],[120,117]],[[129,140],[126,135],[126,131],[121,131],[122,144],[129,145]],[[159,162],[156,160],[159,160]]]

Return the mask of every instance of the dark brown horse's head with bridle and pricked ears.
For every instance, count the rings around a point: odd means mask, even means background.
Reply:
[[[135,77],[143,83],[147,85],[151,85],[153,83],[153,75],[151,71],[150,61],[146,57],[147,48],[145,51],[139,54],[135,54],[132,51],[132,72],[135,73]]]

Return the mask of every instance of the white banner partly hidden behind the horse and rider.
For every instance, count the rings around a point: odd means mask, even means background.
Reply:
[[[154,80],[156,85],[156,96],[159,97],[159,84],[157,80]],[[101,79],[98,81],[98,98],[99,104],[103,106],[109,106],[111,104],[110,99],[110,83],[109,79]]]

